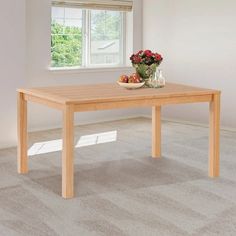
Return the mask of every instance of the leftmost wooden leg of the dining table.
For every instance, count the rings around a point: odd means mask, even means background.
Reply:
[[[17,94],[17,170],[19,174],[28,172],[27,154],[27,101],[23,93]]]

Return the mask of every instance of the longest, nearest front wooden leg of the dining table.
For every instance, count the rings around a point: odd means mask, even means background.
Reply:
[[[62,197],[74,196],[74,107],[63,110]]]

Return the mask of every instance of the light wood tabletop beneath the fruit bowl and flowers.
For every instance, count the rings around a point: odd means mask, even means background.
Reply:
[[[166,86],[161,89],[141,88],[137,90],[127,90],[120,87],[118,84],[112,83],[19,89],[18,91],[62,104],[142,101],[144,99],[211,95],[218,92],[211,89],[172,83],[167,83]]]

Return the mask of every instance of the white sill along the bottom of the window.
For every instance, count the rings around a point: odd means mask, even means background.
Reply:
[[[112,66],[112,67],[63,67],[55,68],[49,67],[49,71],[53,73],[97,73],[97,72],[115,72],[115,71],[130,71],[132,66]]]

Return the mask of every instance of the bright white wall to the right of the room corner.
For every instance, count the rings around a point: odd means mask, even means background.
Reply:
[[[145,48],[163,53],[167,81],[222,90],[222,126],[236,128],[236,1],[148,0]],[[206,105],[167,107],[168,118],[207,123]]]

